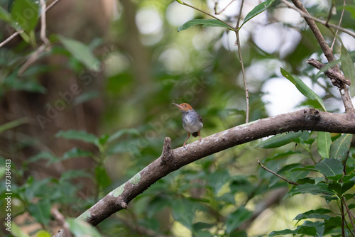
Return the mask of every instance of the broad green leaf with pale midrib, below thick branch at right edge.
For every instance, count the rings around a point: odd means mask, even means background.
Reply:
[[[341,161],[346,160],[349,154],[352,137],[353,137],[352,134],[343,134],[342,136],[337,138],[337,140],[334,140],[334,142],[330,146],[329,157]]]

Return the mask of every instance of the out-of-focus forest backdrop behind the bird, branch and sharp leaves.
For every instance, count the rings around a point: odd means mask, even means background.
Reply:
[[[229,2],[188,1],[212,14],[226,7],[216,16],[235,25],[240,1]],[[354,1],[346,2],[342,27],[354,31]],[[241,21],[259,3],[246,1]],[[324,19],[330,11],[330,22],[339,22],[343,1],[334,7],[329,1],[304,3],[312,16]],[[11,11],[9,1],[1,6]],[[50,208],[79,216],[158,158],[165,136],[173,148],[182,145],[187,135],[173,102],[186,102],[202,115],[202,137],[246,122],[235,33],[202,26],[178,32],[194,18],[209,17],[177,1],[62,0],[47,13],[50,48],[22,75],[18,70],[41,44],[40,23],[31,31],[35,42],[18,36],[0,48],[0,124],[15,121],[0,126],[0,166],[11,159],[12,214],[22,231],[36,236],[38,229],[58,230]],[[15,32],[5,21],[0,26],[1,41]],[[331,43],[332,32],[319,27]],[[355,50],[354,38],[339,37],[349,52]],[[276,1],[241,28],[240,44],[249,121],[318,108],[280,67],[319,94],[328,111],[344,111],[337,89],[305,62],[325,61],[294,10]],[[80,58],[87,51],[95,57],[92,65]],[[339,52],[336,42],[338,57]],[[309,158],[302,151],[278,157],[278,150],[251,149],[255,144],[164,177],[134,199],[129,211],[99,224],[99,231],[103,236],[258,236],[294,228],[298,213],[324,201],[307,195],[283,199],[288,185],[258,169],[256,158],[270,159],[268,166],[275,169]],[[235,223],[239,214],[245,219]]]

